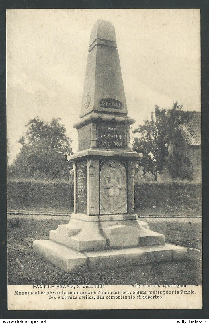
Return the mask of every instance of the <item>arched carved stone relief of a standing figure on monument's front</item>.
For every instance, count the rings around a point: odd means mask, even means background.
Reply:
[[[119,161],[106,161],[100,170],[100,214],[126,213],[126,168]]]

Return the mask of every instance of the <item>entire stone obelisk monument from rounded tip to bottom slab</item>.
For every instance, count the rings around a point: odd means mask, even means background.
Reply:
[[[129,146],[130,125],[114,26],[92,29],[74,170],[74,213],[67,225],[33,241],[33,251],[66,272],[181,260],[187,249],[165,244],[134,212],[134,169],[140,153]]]

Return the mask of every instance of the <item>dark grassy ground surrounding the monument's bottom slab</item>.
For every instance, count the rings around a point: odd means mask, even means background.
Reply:
[[[151,230],[165,234],[167,243],[188,247],[188,258],[68,274],[32,252],[33,240],[48,239],[49,230],[67,224],[68,217],[62,220],[13,217],[8,220],[8,284],[202,284],[201,219],[143,217],[143,220]]]

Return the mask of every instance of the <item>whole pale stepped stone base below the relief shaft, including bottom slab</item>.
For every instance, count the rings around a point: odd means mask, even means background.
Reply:
[[[49,240],[33,241],[33,251],[68,273],[182,260],[187,249],[165,244],[136,214],[71,214],[51,230]]]

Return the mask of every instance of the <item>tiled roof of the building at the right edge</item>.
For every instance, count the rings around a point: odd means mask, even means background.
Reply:
[[[181,127],[182,136],[189,145],[201,145],[201,112],[185,111],[187,121]]]

